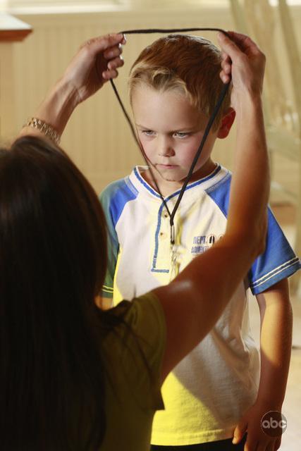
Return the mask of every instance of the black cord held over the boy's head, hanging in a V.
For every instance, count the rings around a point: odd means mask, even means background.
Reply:
[[[228,33],[225,30],[222,30],[221,28],[171,28],[171,29],[149,28],[149,29],[142,29],[142,30],[125,30],[125,31],[121,31],[121,33],[123,35],[144,35],[144,34],[147,35],[147,34],[151,34],[151,33],[176,33],[176,32],[188,32],[188,31],[217,31],[217,32],[222,32],[224,35],[227,35],[228,37],[230,37],[228,35]],[[226,83],[223,86],[223,89],[221,89],[221,94],[219,95],[219,99],[216,102],[216,106],[214,107],[214,111],[212,112],[212,114],[211,114],[211,116],[209,118],[209,121],[208,121],[207,126],[206,126],[205,131],[204,131],[204,135],[202,137],[202,141],[199,144],[199,148],[197,149],[197,152],[195,154],[195,158],[192,161],[192,164],[190,166],[190,170],[188,172],[188,175],[185,178],[185,182],[183,183],[183,186],[180,189],[180,193],[178,195],[178,199],[176,201],[176,204],[173,207],[173,211],[170,211],[168,209],[168,205],[166,204],[166,200],[164,199],[163,195],[161,194],[161,191],[159,190],[159,186],[158,186],[158,183],[156,182],[156,178],[155,178],[154,173],[152,171],[152,167],[149,164],[149,161],[147,160],[147,156],[146,156],[145,151],[144,151],[144,149],[142,147],[142,144],[141,144],[140,140],[138,139],[138,137],[136,135],[135,128],[133,126],[132,121],[130,120],[130,116],[128,115],[128,112],[125,110],[125,107],[123,105],[121,97],[118,94],[116,85],[114,84],[112,79],[110,80],[110,82],[111,82],[111,86],[113,87],[113,91],[115,92],[116,97],[118,99],[118,102],[119,102],[119,104],[121,106],[121,109],[122,109],[122,111],[123,111],[123,113],[125,115],[125,118],[128,121],[128,125],[130,126],[130,131],[132,132],[134,140],[137,143],[137,145],[138,145],[138,147],[140,149],[140,152],[142,153],[142,156],[145,159],[145,162],[147,163],[147,166],[149,167],[149,173],[151,174],[154,186],[156,187],[156,190],[157,190],[157,192],[158,192],[158,194],[159,194],[159,196],[161,198],[161,201],[163,202],[163,204],[164,204],[164,206],[166,208],[166,211],[168,213],[168,216],[170,218],[169,223],[170,223],[170,226],[171,226],[171,245],[174,245],[175,244],[175,226],[174,226],[174,221],[173,220],[174,220],[174,217],[176,215],[176,211],[178,210],[178,206],[180,205],[180,201],[181,201],[181,199],[183,197],[185,189],[186,189],[188,183],[190,182],[190,179],[192,178],[193,170],[195,169],[195,165],[197,164],[199,156],[200,156],[200,154],[202,152],[202,149],[204,147],[204,144],[205,144],[205,142],[207,140],[207,136],[209,135],[209,132],[211,130],[211,126],[214,123],[216,115],[219,113],[219,109],[221,108],[221,105],[223,104],[223,99],[226,97],[226,94],[228,92],[228,88],[229,88],[230,82]]]

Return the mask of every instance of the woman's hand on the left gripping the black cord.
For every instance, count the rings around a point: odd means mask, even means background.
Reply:
[[[117,69],[123,66],[122,44],[125,37],[121,34],[95,37],[82,44],[63,74],[63,82],[75,90],[77,104],[117,77]]]

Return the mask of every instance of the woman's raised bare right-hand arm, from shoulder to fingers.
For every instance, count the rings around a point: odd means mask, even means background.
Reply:
[[[226,234],[196,257],[173,282],[154,293],[166,316],[167,342],[162,380],[211,330],[264,251],[269,159],[262,113],[264,54],[249,37],[219,36],[221,79],[231,74],[231,103],[237,116],[235,170]]]

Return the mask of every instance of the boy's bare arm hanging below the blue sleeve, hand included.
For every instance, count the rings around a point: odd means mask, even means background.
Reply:
[[[247,431],[245,450],[276,451],[281,436],[270,437],[262,431],[262,416],[271,410],[281,412],[290,365],[293,315],[288,279],[285,278],[257,295],[261,319],[261,372],[259,391],[254,405],[235,428],[233,443]]]

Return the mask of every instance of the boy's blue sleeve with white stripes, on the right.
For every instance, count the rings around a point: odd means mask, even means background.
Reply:
[[[274,214],[269,209],[266,249],[254,261],[248,273],[253,295],[258,295],[280,280],[292,276],[300,268],[300,259],[296,257]]]

